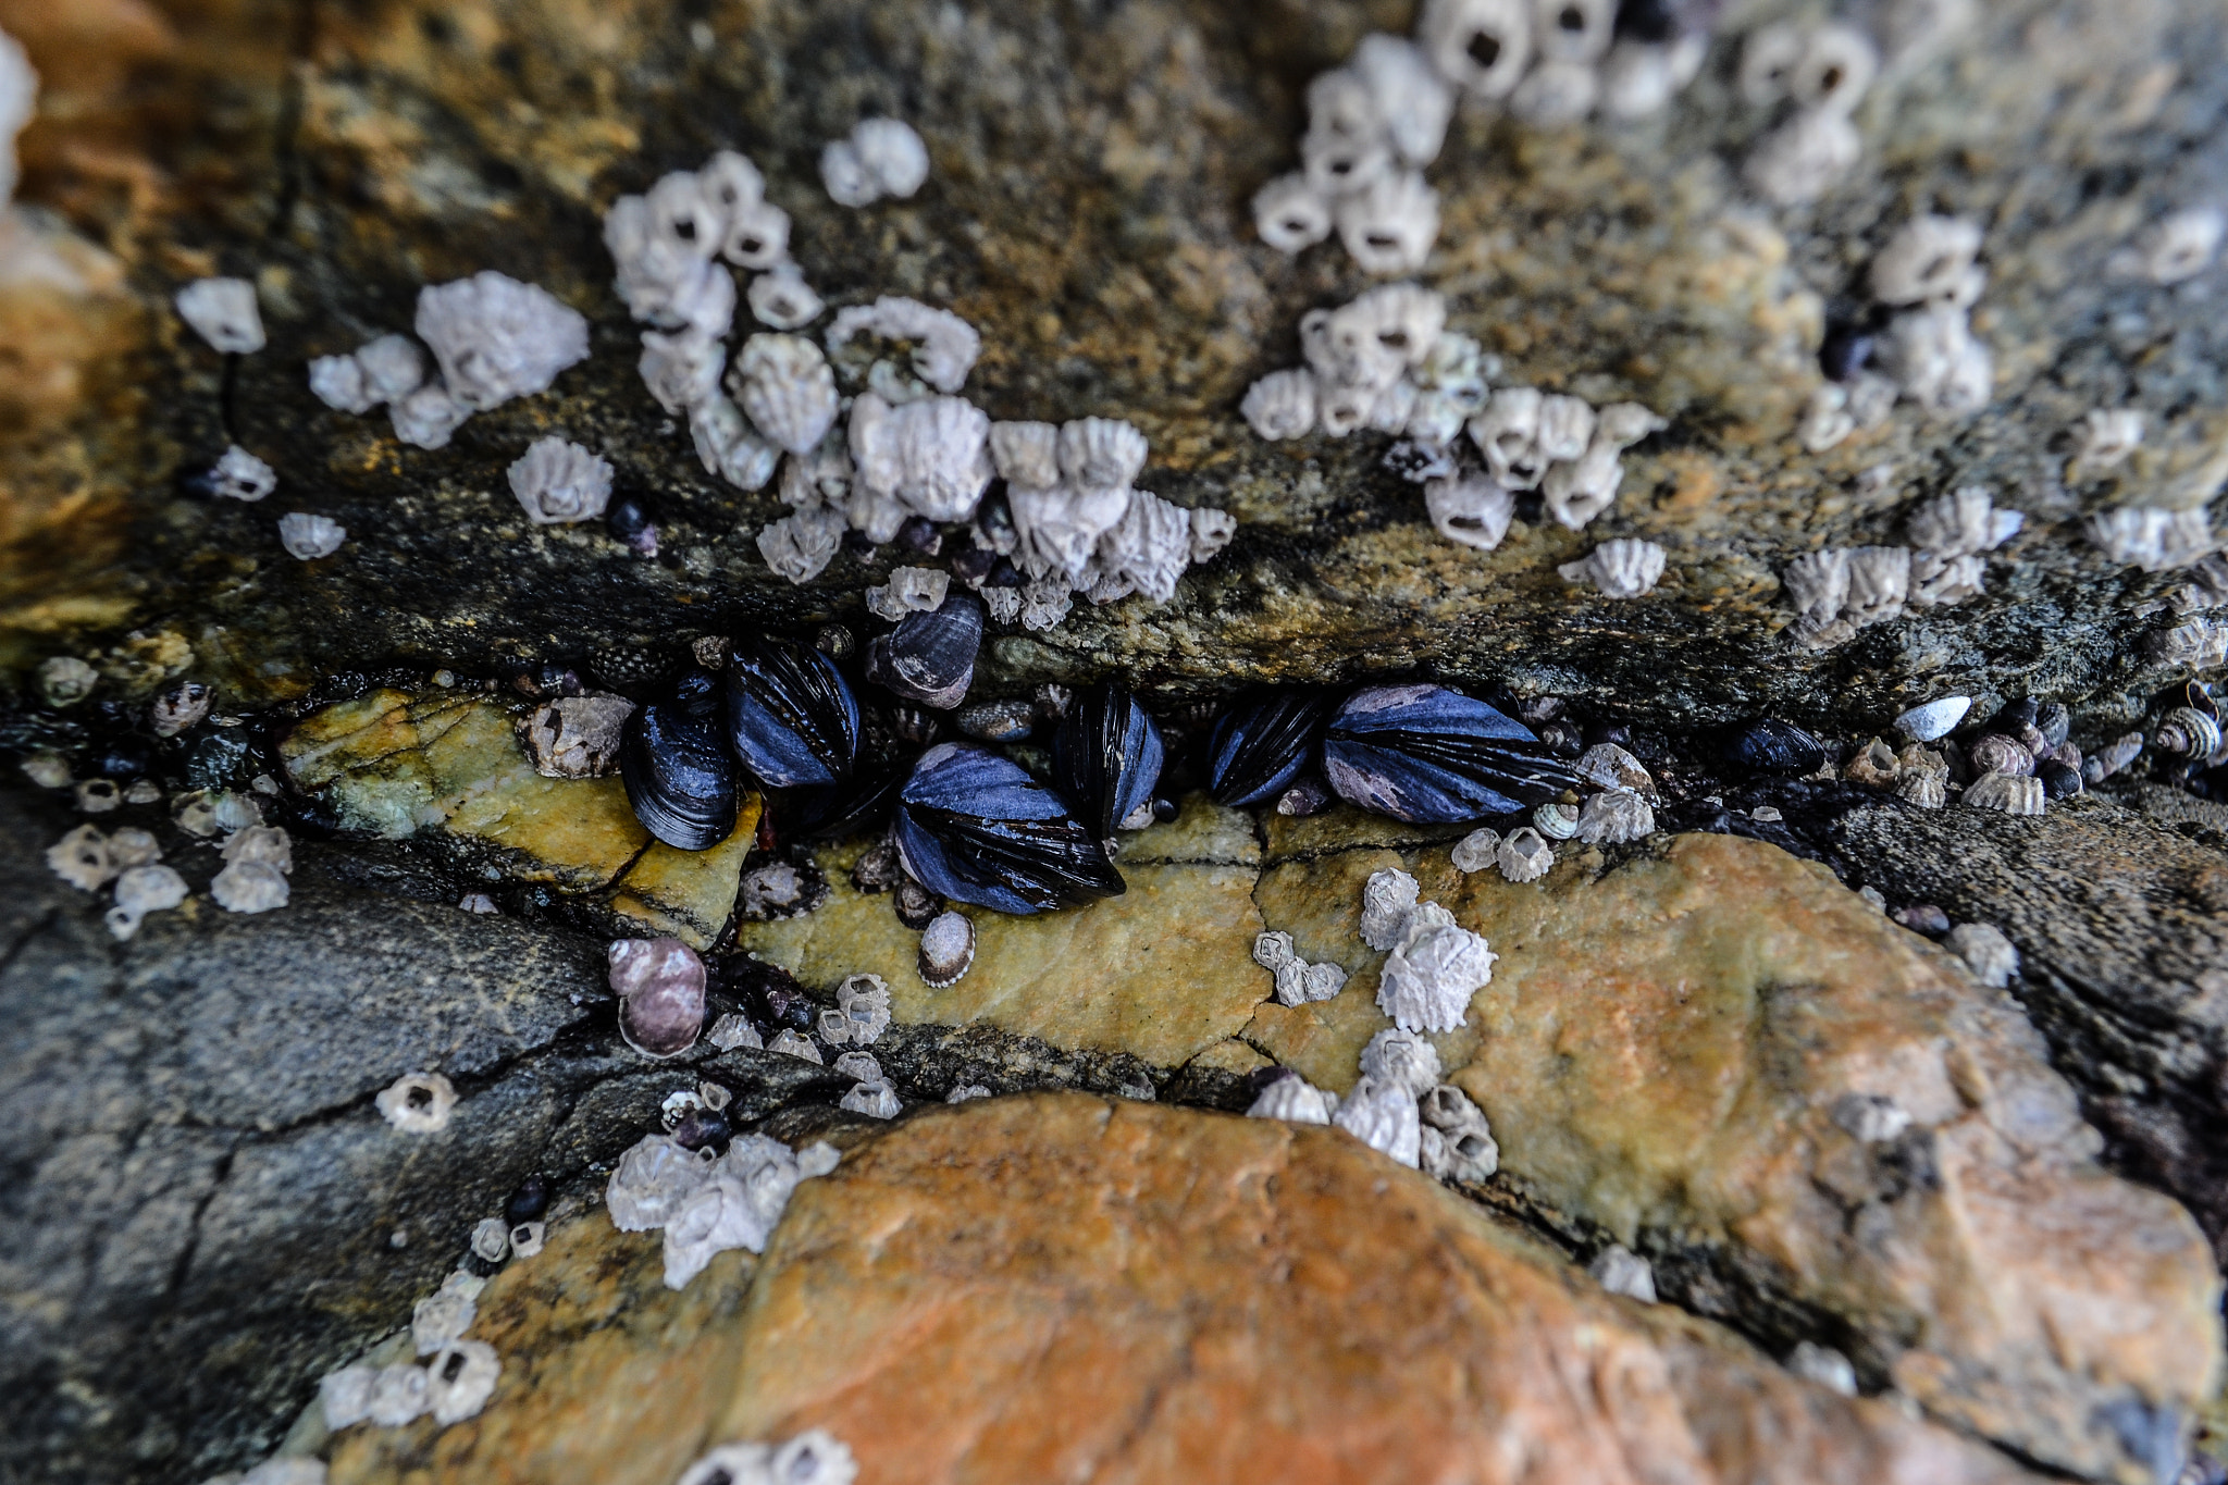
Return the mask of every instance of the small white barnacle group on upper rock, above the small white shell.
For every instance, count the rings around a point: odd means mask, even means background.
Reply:
[[[1983,592],[1985,554],[2019,534],[2025,517],[1996,510],[1983,485],[1961,485],[1912,508],[1909,545],[1825,548],[1787,563],[1780,586],[1794,603],[1789,632],[1836,646],[1905,608],[1945,608]]]

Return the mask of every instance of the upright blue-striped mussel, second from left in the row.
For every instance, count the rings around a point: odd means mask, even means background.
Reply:
[[[726,739],[766,788],[829,788],[858,759],[858,697],[836,661],[786,639],[744,637],[726,657]]]

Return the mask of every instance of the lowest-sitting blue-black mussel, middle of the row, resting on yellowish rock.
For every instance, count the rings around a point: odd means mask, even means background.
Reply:
[[[898,793],[896,839],[916,882],[998,913],[1123,893],[1098,833],[1018,764],[974,744],[920,755]]]

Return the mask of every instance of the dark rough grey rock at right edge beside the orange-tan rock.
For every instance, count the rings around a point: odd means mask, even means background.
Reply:
[[[2188,1202],[2228,1267],[2228,859],[2097,797],[2023,822],[1856,810],[1836,842],[1892,895],[2012,940],[2021,1004],[2108,1158]]]

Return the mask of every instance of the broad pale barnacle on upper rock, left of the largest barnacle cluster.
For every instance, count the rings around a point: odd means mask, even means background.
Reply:
[[[417,334],[448,394],[475,412],[546,392],[588,358],[588,321],[577,309],[492,269],[419,289]]]

